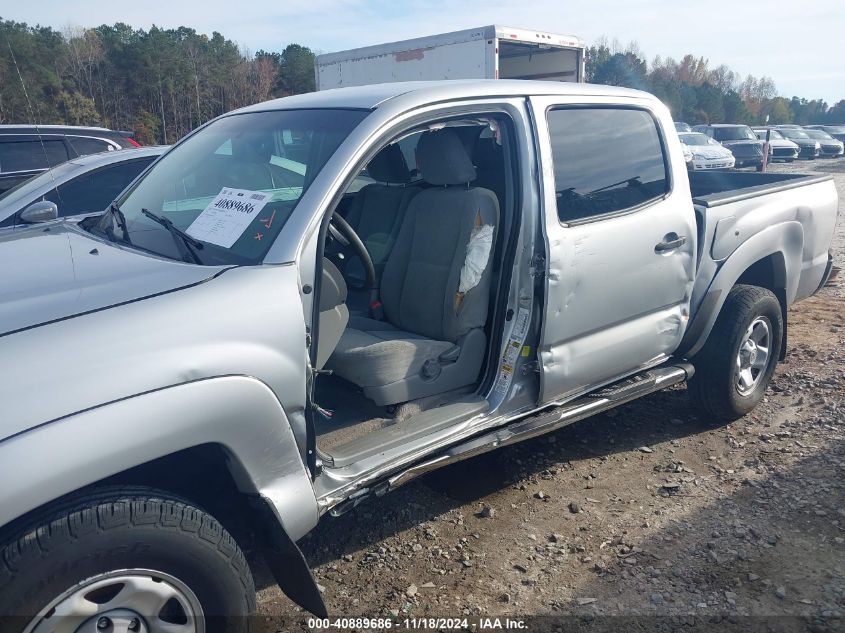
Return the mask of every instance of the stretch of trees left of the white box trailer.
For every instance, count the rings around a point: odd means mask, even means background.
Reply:
[[[314,90],[314,54],[252,54],[214,32],[0,20],[0,123],[104,125],[173,143],[245,105]]]

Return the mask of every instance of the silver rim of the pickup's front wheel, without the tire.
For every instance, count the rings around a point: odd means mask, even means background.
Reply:
[[[44,607],[24,633],[204,633],[202,606],[169,574],[122,569],[87,578]]]

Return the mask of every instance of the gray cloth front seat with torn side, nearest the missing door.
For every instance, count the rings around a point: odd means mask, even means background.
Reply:
[[[417,164],[434,186],[410,201],[385,262],[385,319],[350,318],[327,364],[380,405],[470,385],[486,352],[489,261],[473,288],[458,286],[473,229],[498,225],[496,195],[469,186],[475,168],[449,128],[422,135]]]

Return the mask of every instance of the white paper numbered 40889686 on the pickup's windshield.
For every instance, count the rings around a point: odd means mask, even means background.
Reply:
[[[272,195],[247,189],[223,189],[185,232],[203,242],[231,248]]]

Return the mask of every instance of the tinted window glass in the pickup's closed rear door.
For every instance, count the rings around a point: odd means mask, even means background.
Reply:
[[[657,124],[644,110],[566,108],[548,113],[561,222],[663,196],[669,178]]]

